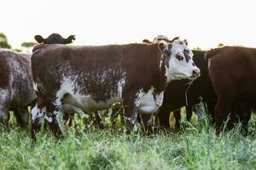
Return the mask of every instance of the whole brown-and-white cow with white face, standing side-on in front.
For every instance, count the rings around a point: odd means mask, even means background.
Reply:
[[[160,107],[168,82],[200,75],[191,50],[178,39],[155,44],[38,45],[33,51],[35,131],[44,118],[55,133],[66,135],[70,116],[61,111],[62,105],[94,112],[115,102],[125,105],[126,125],[131,127],[138,112],[152,114]]]

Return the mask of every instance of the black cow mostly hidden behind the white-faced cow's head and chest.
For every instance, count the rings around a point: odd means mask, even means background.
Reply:
[[[157,43],[161,40],[166,42],[173,41],[170,40],[168,37],[159,35],[157,37],[154,37],[154,40],[152,42],[148,40],[143,40],[143,42]],[[191,82],[191,80],[187,79],[172,81],[168,84],[164,93],[163,104],[161,105],[160,110],[156,115],[159,117],[160,127],[165,127],[166,129],[170,128],[170,112],[173,111],[176,120],[175,127],[178,130],[180,128],[181,119],[181,112],[179,109],[183,106],[186,106],[186,115],[188,121],[190,121],[190,118],[192,116],[192,106],[195,106],[196,113],[198,113],[199,118],[202,118],[202,116],[204,115],[204,106],[201,105],[201,99],[207,102],[208,109],[210,108],[210,104],[212,104],[212,99],[215,99],[216,95],[214,95],[211,81],[208,76],[207,61],[204,59],[205,51],[192,50],[192,52],[194,54],[193,59],[195,65],[197,65],[197,67],[201,70],[201,77],[195,79],[193,83]],[[212,105],[215,105],[215,103],[213,102]],[[144,122],[146,119],[147,117],[143,116]]]

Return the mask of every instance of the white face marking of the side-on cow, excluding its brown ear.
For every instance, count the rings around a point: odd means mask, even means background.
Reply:
[[[193,53],[192,51],[180,40],[175,40],[172,42],[172,53],[169,60],[169,66],[166,66],[166,77],[167,82],[172,80],[179,80],[183,78],[190,78],[193,75],[193,71],[199,72],[199,68],[194,65]],[[184,49],[189,51],[189,56],[191,59],[186,61],[183,54]],[[176,54],[182,55],[183,59],[178,60]]]

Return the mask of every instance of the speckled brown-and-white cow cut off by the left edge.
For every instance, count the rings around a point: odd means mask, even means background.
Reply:
[[[28,122],[27,105],[36,98],[32,88],[31,54],[0,50],[0,122],[7,127],[9,110],[21,126]]]

